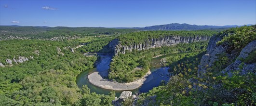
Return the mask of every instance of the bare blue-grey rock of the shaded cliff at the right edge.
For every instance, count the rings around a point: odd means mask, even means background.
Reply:
[[[213,66],[214,62],[218,60],[217,54],[226,53],[227,48],[223,45],[216,45],[216,42],[221,40],[221,37],[213,36],[208,44],[207,52],[202,56],[200,65],[198,66],[198,77],[201,77],[203,74],[206,73],[206,69],[208,67]],[[256,63],[253,64],[243,64],[241,59],[246,58],[249,53],[252,53],[256,51],[256,40],[248,43],[243,50],[240,52],[239,56],[236,58],[235,62],[227,66],[224,70],[222,70],[222,73],[228,73],[229,76],[232,75],[232,70],[242,70],[242,74],[246,74],[248,71],[256,70]],[[230,60],[235,59],[234,53],[231,52],[231,54],[227,54]],[[243,66],[243,69],[240,69],[239,66]]]

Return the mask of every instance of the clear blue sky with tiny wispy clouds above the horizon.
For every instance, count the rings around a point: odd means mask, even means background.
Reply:
[[[256,24],[256,0],[0,0],[0,25],[147,27]]]

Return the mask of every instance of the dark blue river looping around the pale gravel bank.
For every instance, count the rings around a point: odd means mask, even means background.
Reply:
[[[96,65],[95,68],[86,70],[81,72],[78,76],[77,76],[77,80],[76,83],[78,85],[79,88],[82,87],[82,85],[87,85],[88,88],[91,89],[91,93],[95,92],[98,94],[108,94],[110,93],[112,90],[108,90],[108,89],[104,89],[104,88],[100,88],[97,86],[94,86],[93,84],[91,84],[88,81],[87,76],[93,72],[99,72],[99,74],[101,76],[108,76],[108,69],[109,69],[109,64],[111,61],[111,55],[105,55],[105,54],[99,54],[99,56],[101,57],[101,61]],[[151,74],[149,76],[153,77],[153,80],[147,81],[147,83],[144,83],[140,88],[137,88],[135,90],[129,90],[133,93],[135,92],[140,92],[140,93],[146,93],[149,90],[153,89],[154,87],[157,87],[160,85],[161,80],[165,80],[168,81],[170,78],[167,77],[169,76],[169,72],[168,69],[169,67],[165,67],[162,66],[162,64],[160,63],[160,60],[165,57],[165,56],[160,56],[157,58],[153,58],[152,61],[150,62],[150,71]],[[115,91],[116,96],[119,97],[119,95],[121,94],[122,91]]]

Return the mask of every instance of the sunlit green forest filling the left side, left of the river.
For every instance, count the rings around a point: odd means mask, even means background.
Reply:
[[[93,68],[96,60],[68,49],[78,42],[4,40],[0,45],[1,62],[14,56],[33,56],[24,63],[0,67],[0,106],[109,106],[115,97],[114,92],[101,95],[90,93],[86,85],[77,87],[76,76]]]

